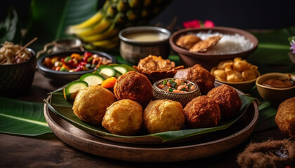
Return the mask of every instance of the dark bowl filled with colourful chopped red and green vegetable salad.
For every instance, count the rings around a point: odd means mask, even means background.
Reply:
[[[69,83],[98,66],[116,63],[112,55],[96,50],[55,52],[37,60],[38,71],[56,83]]]

